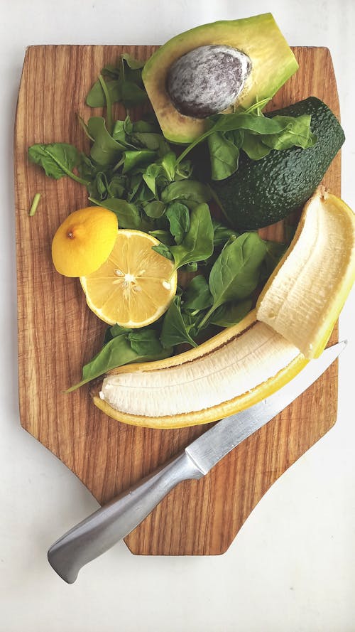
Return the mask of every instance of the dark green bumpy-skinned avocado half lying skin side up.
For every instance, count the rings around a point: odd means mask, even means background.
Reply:
[[[345,140],[332,110],[316,97],[268,112],[266,116],[276,114],[293,117],[310,114],[310,127],[317,142],[309,149],[272,150],[258,161],[241,151],[238,171],[226,180],[212,181],[224,213],[238,230],[268,226],[302,208]]]

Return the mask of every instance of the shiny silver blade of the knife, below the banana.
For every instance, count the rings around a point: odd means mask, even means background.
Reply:
[[[307,390],[337,359],[346,347],[346,341],[323,351],[320,358],[310,360],[304,369],[288,384],[266,400],[246,410],[232,414],[204,432],[187,446],[185,453],[203,474],[215,466],[226,454],[275,417],[302,392]]]

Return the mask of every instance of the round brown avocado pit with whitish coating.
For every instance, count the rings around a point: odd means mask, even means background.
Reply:
[[[241,50],[199,46],[170,66],[166,87],[178,112],[204,119],[236,101],[250,72],[251,60]]]

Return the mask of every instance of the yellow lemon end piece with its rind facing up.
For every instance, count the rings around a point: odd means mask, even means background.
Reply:
[[[89,206],[70,213],[52,242],[53,264],[65,277],[91,274],[107,259],[117,235],[117,218],[111,210]]]

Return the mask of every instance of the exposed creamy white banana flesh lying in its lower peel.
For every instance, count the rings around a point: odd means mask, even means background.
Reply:
[[[213,353],[190,362],[108,375],[100,397],[116,410],[144,417],[200,411],[266,382],[297,355],[295,345],[256,322]]]

